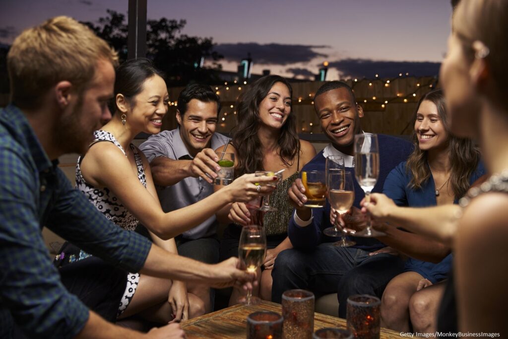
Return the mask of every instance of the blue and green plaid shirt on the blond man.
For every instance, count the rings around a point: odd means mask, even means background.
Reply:
[[[112,265],[138,271],[151,243],[108,221],[51,162],[23,112],[0,109],[0,337],[13,320],[30,337],[75,336],[88,309],[60,282],[41,236],[48,227]]]

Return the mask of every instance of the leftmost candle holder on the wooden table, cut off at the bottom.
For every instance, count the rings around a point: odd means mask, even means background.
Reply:
[[[247,339],[282,339],[282,321],[275,312],[255,312],[247,316]]]

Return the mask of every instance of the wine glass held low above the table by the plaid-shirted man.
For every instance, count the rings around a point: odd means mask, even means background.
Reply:
[[[266,255],[266,235],[265,229],[259,225],[249,225],[242,228],[240,242],[238,244],[238,258],[247,270],[247,272],[256,272],[263,262]],[[260,302],[258,297],[252,296],[252,291],[247,290],[247,295],[242,303],[246,305],[255,305]]]

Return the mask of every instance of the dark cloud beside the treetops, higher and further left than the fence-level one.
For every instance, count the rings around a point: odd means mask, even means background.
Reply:
[[[287,44],[259,44],[255,42],[218,44],[214,49],[224,55],[226,60],[240,61],[250,53],[255,64],[287,65],[308,62],[315,57],[327,57],[327,54],[314,51],[315,48],[329,46],[287,45]]]

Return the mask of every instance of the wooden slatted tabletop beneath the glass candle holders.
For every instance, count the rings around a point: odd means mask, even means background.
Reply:
[[[262,301],[258,305],[235,305],[217,312],[205,314],[181,323],[187,338],[242,338],[246,336],[247,316],[258,311],[273,311],[281,313],[281,305]],[[327,316],[321,313],[314,314],[314,330],[324,327],[345,328],[345,319]],[[381,339],[399,338],[399,332],[381,329]]]

